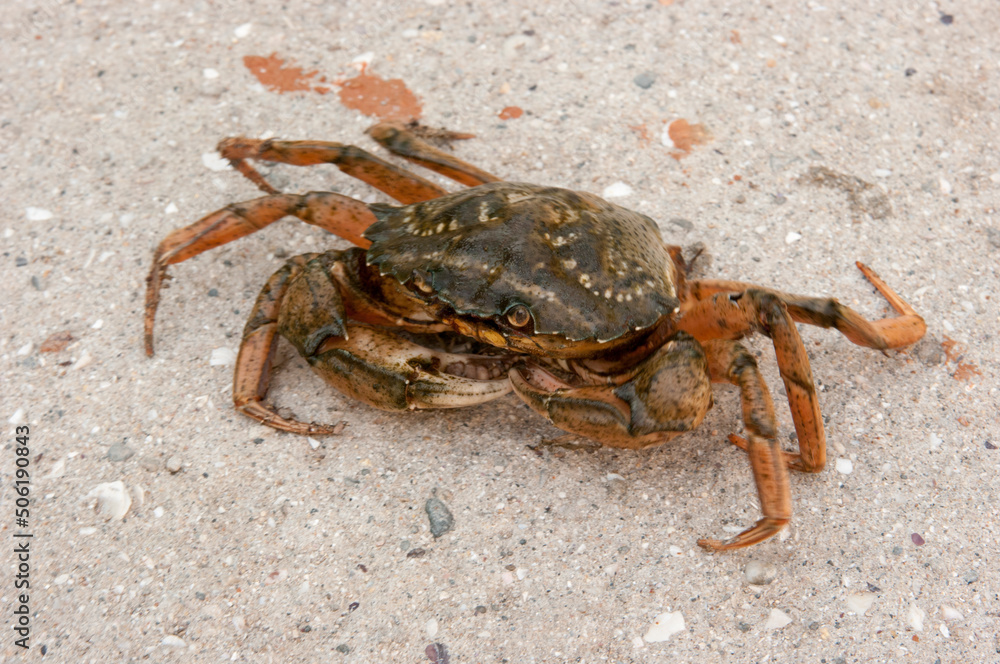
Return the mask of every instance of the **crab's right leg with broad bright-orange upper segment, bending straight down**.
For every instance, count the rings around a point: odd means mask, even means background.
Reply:
[[[779,294],[756,288],[743,293],[716,293],[690,307],[677,326],[703,343],[740,339],[753,332],[771,337],[799,441],[799,453],[786,456],[788,466],[811,473],[823,470],[826,433],[809,356]]]

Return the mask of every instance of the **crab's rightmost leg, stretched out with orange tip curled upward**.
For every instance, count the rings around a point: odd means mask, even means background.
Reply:
[[[702,279],[689,282],[688,287],[691,295],[697,300],[709,298],[716,293],[739,293],[748,289],[773,293],[785,303],[788,313],[796,322],[836,328],[853,343],[876,350],[900,348],[920,341],[927,331],[924,319],[882,281],[874,270],[860,262],[857,266],[876,290],[889,301],[890,306],[900,314],[899,317],[868,321],[858,312],[845,307],[833,298],[790,295],[739,281]]]

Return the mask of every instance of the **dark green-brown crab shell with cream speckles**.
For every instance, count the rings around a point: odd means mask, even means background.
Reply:
[[[416,276],[461,315],[491,318],[520,304],[535,334],[609,341],[678,306],[653,220],[593,194],[495,182],[371,208],[368,264],[403,284]]]

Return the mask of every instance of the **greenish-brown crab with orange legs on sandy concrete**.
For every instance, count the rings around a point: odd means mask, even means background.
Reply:
[[[762,518],[710,550],[746,547],[791,518],[788,470],[823,470],[826,442],[809,359],[795,323],[835,328],[881,351],[918,341],[923,319],[857,263],[898,314],[868,321],[831,298],[737,281],[692,279],[679,247],[649,217],[584,192],[501,181],[425,141],[412,125],[368,130],[390,152],[469,188],[437,184],[360,148],[319,141],[229,138],[220,154],[267,195],[228,205],[170,233],[147,279],[145,345],[169,265],[298,217],[353,247],[295,256],[260,292],[233,378],[236,409],[297,434],[330,426],[265,403],[278,338],[323,380],[375,408],[472,406],[513,391],[570,434],[639,449],[691,431],[712,383],[739,390]],[[466,136],[461,136],[466,137]],[[333,192],[282,193],[248,159],[335,164],[401,206]],[[798,450],[782,449],[774,406],[739,340],[769,337]]]

